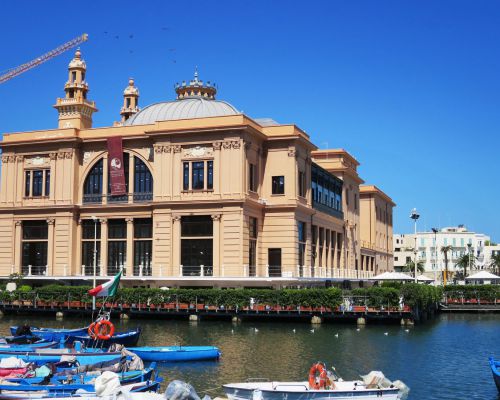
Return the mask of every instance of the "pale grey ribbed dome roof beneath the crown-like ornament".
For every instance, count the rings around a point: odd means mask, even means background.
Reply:
[[[156,121],[222,117],[237,114],[240,114],[240,112],[225,101],[195,97],[151,104],[130,117],[125,122],[125,125],[147,125]]]

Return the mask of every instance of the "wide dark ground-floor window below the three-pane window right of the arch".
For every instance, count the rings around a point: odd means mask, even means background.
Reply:
[[[213,275],[213,221],[209,215],[181,218],[181,264],[184,276]]]

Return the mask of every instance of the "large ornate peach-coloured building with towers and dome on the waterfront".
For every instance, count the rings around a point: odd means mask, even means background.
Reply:
[[[77,51],[57,129],[0,144],[1,276],[123,270],[131,285],[270,286],[392,270],[392,245],[376,238],[392,238],[394,203],[375,188],[385,217],[365,215],[372,190],[360,189],[345,150],[319,151],[295,125],[249,118],[197,73],[176,85],[176,100],[142,110],[130,80],[121,122],[93,128],[85,73]]]

